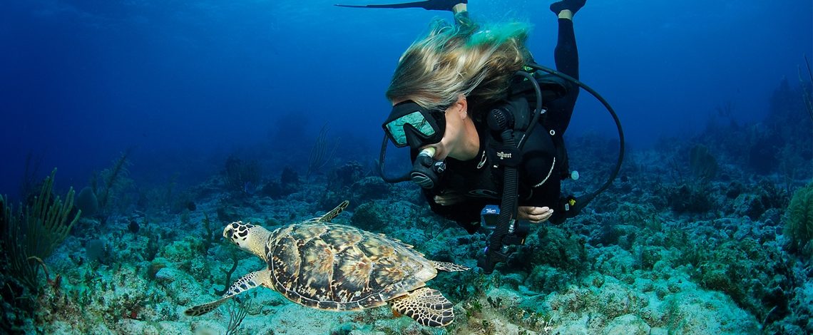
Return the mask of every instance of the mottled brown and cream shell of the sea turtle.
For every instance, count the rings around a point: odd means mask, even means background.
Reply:
[[[323,310],[381,306],[437,275],[412,246],[341,224],[308,221],[278,228],[266,255],[272,289]]]

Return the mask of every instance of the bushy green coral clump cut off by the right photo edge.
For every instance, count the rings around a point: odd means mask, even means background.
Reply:
[[[813,255],[813,183],[798,189],[785,211],[787,249],[798,255]]]

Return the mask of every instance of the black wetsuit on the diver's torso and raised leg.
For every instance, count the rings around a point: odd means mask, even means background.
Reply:
[[[579,55],[572,20],[559,19],[559,38],[554,50],[554,61],[559,72],[579,78]],[[567,173],[567,154],[563,133],[570,123],[579,89],[567,91],[561,98],[546,102],[544,121],[533,128],[522,150],[519,206],[559,207],[562,176]],[[535,98],[533,99],[535,100]],[[533,110],[534,101],[530,102]],[[502,168],[494,168],[489,159],[489,147],[498,145],[485,122],[475,121],[480,135],[480,151],[475,159],[461,161],[446,159],[446,172],[434,189],[424,189],[432,211],[454,220],[469,233],[479,228],[480,210],[485,205],[500,203],[502,195]],[[415,155],[413,155],[414,157]],[[449,206],[438,205],[434,197],[446,192],[464,194],[466,200]],[[554,212],[554,215],[560,213]]]

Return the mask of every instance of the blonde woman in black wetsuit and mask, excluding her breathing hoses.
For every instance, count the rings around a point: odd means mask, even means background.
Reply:
[[[550,5],[559,18],[556,68],[576,79],[579,62],[572,20],[585,1]],[[481,210],[500,203],[504,172],[497,160],[510,155],[500,151],[504,138],[489,128],[485,115],[506,103],[524,110],[529,105],[533,110],[536,100],[533,94],[517,98],[521,94],[516,92],[523,78],[515,73],[533,62],[525,46],[528,27],[516,23],[480,26],[469,19],[466,1],[401,5],[453,11],[455,24],[437,21],[426,37],[402,54],[386,91],[393,111],[383,128],[395,146],[411,147],[413,162],[420,159],[419,153],[432,155],[437,179],[423,189],[429,206],[474,233],[480,228]],[[569,173],[562,136],[578,94],[577,88],[567,89],[546,101],[547,112],[539,126],[522,134],[528,138],[516,167],[516,217],[520,220],[564,220],[557,213],[562,199],[560,182]]]

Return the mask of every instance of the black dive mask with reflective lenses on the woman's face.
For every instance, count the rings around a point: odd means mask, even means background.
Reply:
[[[406,100],[393,106],[393,111],[381,126],[395,146],[418,149],[441,141],[446,131],[446,115],[444,111],[428,110],[412,100]]]

